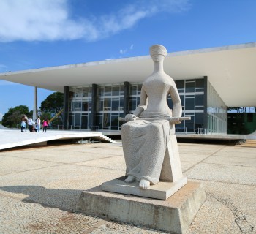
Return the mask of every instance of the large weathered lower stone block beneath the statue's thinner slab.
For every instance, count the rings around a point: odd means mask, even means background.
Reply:
[[[81,193],[78,211],[165,232],[186,233],[205,200],[203,186],[197,182],[188,182],[167,200],[104,192],[97,186]]]

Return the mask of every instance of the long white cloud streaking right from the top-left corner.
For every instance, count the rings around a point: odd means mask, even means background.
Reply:
[[[1,0],[0,42],[86,39],[94,41],[132,28],[159,12],[187,10],[189,0],[141,0],[118,12],[72,19],[68,0]]]

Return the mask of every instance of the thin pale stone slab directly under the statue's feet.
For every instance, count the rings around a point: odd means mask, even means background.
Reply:
[[[135,195],[140,197],[156,198],[167,200],[178,189],[187,184],[187,177],[181,178],[176,182],[162,182],[151,185],[148,189],[140,189],[138,181],[132,183],[124,182],[125,176],[107,181],[102,184],[102,190],[108,192],[117,192],[125,195]]]

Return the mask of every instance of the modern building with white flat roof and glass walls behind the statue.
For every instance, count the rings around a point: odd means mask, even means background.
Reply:
[[[256,106],[256,43],[168,53],[183,116],[177,131],[227,132],[227,107]],[[0,74],[1,80],[64,93],[65,128],[120,129],[153,71],[150,56],[94,61]],[[171,100],[168,99],[171,106]]]

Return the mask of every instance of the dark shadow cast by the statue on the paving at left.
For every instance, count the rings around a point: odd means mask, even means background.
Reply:
[[[76,205],[82,190],[47,189],[43,186],[1,186],[0,190],[10,192],[8,197],[23,197],[25,203],[37,203],[43,207],[59,208],[64,211],[76,211]],[[24,197],[23,195],[27,195]]]

